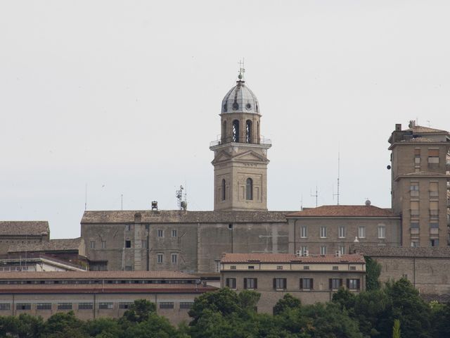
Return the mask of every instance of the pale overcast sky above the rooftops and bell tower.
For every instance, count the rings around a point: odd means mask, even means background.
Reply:
[[[395,123],[450,130],[450,1],[1,1],[0,220],[79,236],[89,210],[212,210],[238,61],[269,210],[390,207]]]

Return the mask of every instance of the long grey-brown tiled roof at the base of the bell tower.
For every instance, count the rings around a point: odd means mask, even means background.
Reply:
[[[134,223],[135,215],[141,223],[252,223],[286,222],[291,211],[84,211],[82,224]]]

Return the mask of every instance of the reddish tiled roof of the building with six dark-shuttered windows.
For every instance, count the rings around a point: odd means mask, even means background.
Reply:
[[[293,253],[224,253],[221,263],[365,263],[364,257],[352,255],[309,255],[298,257]]]

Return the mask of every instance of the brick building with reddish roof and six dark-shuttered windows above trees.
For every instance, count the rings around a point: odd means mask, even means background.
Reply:
[[[224,253],[221,259],[221,287],[259,292],[263,313],[271,313],[287,293],[311,304],[330,301],[340,287],[364,291],[365,277],[366,261],[359,254]]]

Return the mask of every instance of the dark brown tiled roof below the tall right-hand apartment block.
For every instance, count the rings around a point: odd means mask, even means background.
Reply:
[[[413,248],[411,246],[365,246],[352,244],[350,250],[371,257],[450,258],[450,246]]]

